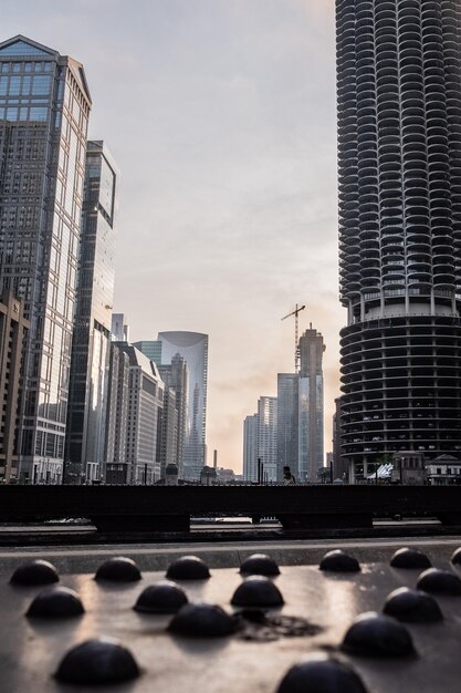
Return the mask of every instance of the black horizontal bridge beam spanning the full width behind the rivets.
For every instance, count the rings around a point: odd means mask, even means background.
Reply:
[[[112,531],[187,531],[191,516],[276,517],[285,530],[371,528],[374,517],[461,526],[461,486],[0,486],[0,521],[86,517]]]

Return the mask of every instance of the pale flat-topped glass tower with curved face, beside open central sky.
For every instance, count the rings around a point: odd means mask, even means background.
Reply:
[[[206,417],[208,381],[208,334],[159,332],[161,362],[171,363],[180,354],[188,368],[188,408],[184,443],[184,477],[200,478],[206,464]]]

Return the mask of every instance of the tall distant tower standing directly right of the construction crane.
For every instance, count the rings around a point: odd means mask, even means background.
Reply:
[[[319,332],[305,330],[300,338],[298,381],[298,475],[315,484],[324,464],[323,445],[323,353]]]

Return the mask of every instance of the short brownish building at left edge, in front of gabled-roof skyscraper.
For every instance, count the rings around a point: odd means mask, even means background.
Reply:
[[[0,484],[19,479],[18,405],[29,327],[22,301],[7,291],[0,300]]]

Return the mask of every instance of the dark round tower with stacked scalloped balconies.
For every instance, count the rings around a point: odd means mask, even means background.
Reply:
[[[461,449],[461,10],[337,0],[342,451]],[[374,466],[373,466],[374,468]]]

